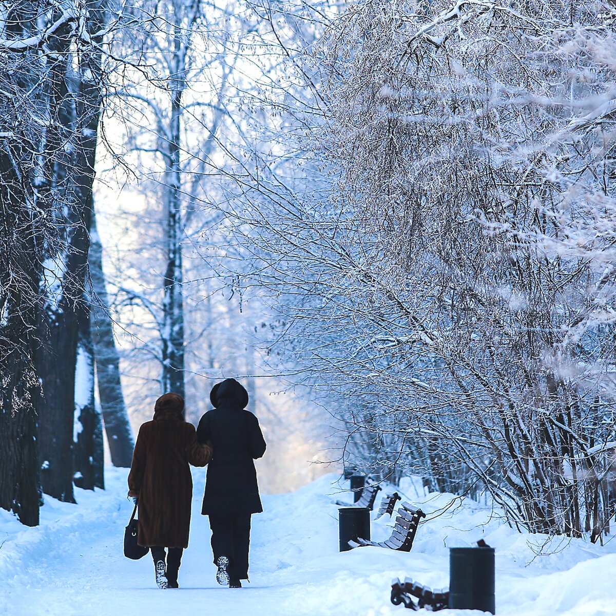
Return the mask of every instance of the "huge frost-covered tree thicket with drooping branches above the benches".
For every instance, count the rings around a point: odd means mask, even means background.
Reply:
[[[238,156],[241,207],[221,208],[254,256],[244,280],[272,291],[278,349],[369,469],[488,490],[514,524],[597,540],[614,400],[556,360],[575,342],[609,373],[609,326],[572,338],[606,283],[545,238],[611,190],[611,7],[358,2],[302,49],[288,6],[272,24],[295,81],[255,97],[269,143]]]

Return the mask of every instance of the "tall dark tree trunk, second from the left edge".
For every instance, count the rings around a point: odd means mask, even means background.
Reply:
[[[93,36],[104,25],[104,2],[87,4],[86,28]],[[79,329],[79,304],[83,299],[89,251],[92,209],[92,183],[101,103],[100,36],[94,45],[78,55],[80,76],[76,91],[67,85],[67,35],[57,38],[59,68],[52,84],[52,112],[60,123],[59,135],[69,137],[70,147],[51,144],[46,155],[54,160],[54,182],[66,208],[63,253],[51,254],[62,262],[59,301],[47,310],[47,344],[39,363],[43,379],[44,402],[41,408],[41,480],[43,490],[55,498],[73,502],[73,421],[75,413],[75,365]],[[59,154],[60,152],[60,154]]]

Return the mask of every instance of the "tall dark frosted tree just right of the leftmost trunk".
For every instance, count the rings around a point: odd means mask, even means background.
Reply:
[[[54,4],[42,6],[39,28],[57,19]],[[39,456],[44,492],[73,501],[75,367],[80,304],[87,274],[94,161],[102,102],[101,44],[107,4],[90,2],[63,9],[70,19],[44,30],[41,51],[41,113],[49,118],[41,148],[38,190],[52,204],[54,237],[44,247],[46,285],[43,344],[38,375],[43,399],[39,413]],[[100,443],[99,447],[102,447]]]

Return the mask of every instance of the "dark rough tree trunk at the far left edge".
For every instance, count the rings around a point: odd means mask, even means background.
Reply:
[[[36,526],[40,387],[34,360],[42,243],[21,158],[21,144],[0,140],[0,507]]]

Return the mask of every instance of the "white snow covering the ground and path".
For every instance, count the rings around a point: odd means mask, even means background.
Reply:
[[[392,578],[448,586],[448,548],[479,538],[496,548],[498,615],[616,615],[616,541],[608,538],[601,547],[521,535],[486,506],[424,495],[410,480],[402,485],[408,500],[428,513],[411,553],[339,553],[334,501],[349,495],[342,493],[346,482],[328,475],[297,492],[263,497],[265,513],[253,516],[251,583],[222,588],[214,579],[208,521],[199,514],[205,471],[195,469],[193,476],[194,514],[179,590],[156,588],[149,554],[140,561],[122,554],[132,511],[123,469],[107,469],[107,490],[76,490],[79,505],[46,497],[38,528],[23,527],[0,509],[0,615],[403,616],[411,612],[389,602]],[[386,538],[387,524],[374,521],[372,538]],[[546,555],[537,556],[540,551]]]

